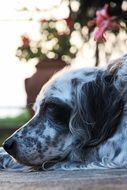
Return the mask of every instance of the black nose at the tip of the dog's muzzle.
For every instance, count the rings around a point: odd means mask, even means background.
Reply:
[[[3,143],[3,148],[12,155],[15,155],[16,152],[16,141],[13,138],[9,138],[7,139],[4,143]]]

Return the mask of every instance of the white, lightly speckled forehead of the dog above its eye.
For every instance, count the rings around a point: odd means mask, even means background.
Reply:
[[[64,102],[71,101],[72,82],[89,82],[96,77],[97,68],[83,68],[78,70],[64,69],[56,73],[40,91],[37,100],[48,99],[51,97],[60,98]]]

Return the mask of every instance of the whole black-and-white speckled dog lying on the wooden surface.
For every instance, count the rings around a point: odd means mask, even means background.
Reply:
[[[34,111],[3,143],[1,169],[127,167],[127,55],[105,68],[59,71]]]

